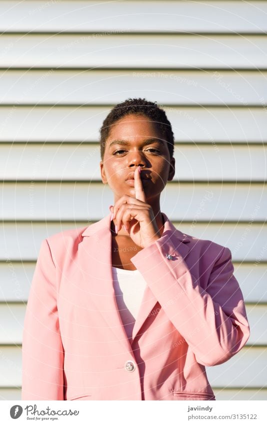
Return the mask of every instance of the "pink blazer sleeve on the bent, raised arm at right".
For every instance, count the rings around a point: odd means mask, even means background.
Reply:
[[[221,247],[203,289],[199,279],[177,255],[166,236],[131,258],[169,320],[192,349],[196,361],[204,366],[223,363],[236,354],[249,337],[244,300],[233,276],[231,253]]]

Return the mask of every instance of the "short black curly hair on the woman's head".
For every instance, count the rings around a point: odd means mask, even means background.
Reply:
[[[171,124],[168,121],[165,111],[157,106],[156,102],[149,102],[146,99],[127,99],[115,105],[106,116],[100,128],[100,156],[104,157],[105,141],[108,138],[110,127],[126,115],[145,115],[153,121],[156,129],[162,134],[167,142],[170,159],[173,157],[174,136]]]

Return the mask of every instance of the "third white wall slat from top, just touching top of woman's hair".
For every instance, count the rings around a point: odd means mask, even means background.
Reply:
[[[149,66],[138,58],[140,63]],[[156,64],[161,66],[158,60]],[[266,78],[266,71],[1,70],[0,93],[1,103],[14,108],[22,104],[109,106],[132,97],[176,106],[261,106],[267,104]]]

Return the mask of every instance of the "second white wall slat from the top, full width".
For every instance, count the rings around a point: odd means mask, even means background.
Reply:
[[[19,34],[0,50],[3,68],[267,68],[264,36]]]

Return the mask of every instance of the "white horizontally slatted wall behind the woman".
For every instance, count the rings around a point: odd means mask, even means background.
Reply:
[[[40,242],[112,194],[98,129],[128,97],[162,105],[176,176],[161,209],[232,251],[251,336],[208,367],[217,399],[266,399],[267,2],[0,0],[0,399],[19,399]]]

